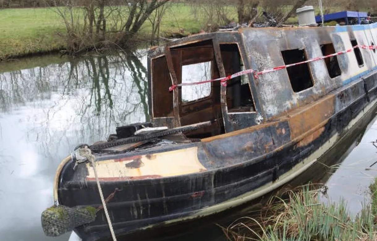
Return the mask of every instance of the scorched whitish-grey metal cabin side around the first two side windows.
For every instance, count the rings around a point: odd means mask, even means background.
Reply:
[[[334,28],[244,29],[244,44],[254,69],[284,65],[281,51],[305,49],[307,59],[322,56],[320,44],[332,42]],[[260,105],[267,120],[319,99],[341,85],[331,80],[324,61],[309,64],[313,87],[293,92],[287,70],[259,76],[254,80]]]

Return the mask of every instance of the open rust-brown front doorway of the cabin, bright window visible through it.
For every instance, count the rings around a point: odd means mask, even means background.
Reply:
[[[219,78],[219,70],[211,41],[171,49],[178,83],[192,83]],[[209,82],[179,88],[179,118],[181,125],[212,121],[191,136],[207,137],[224,133],[220,104],[220,82]]]

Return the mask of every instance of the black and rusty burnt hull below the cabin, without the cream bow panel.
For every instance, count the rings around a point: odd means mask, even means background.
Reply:
[[[160,150],[195,149],[205,168],[202,172],[139,180],[103,179],[101,185],[105,196],[115,188],[120,189],[107,205],[116,234],[187,222],[244,203],[259,202],[264,195],[310,168],[352,127],[370,118],[377,102],[376,82],[377,74],[371,73],[290,117],[251,130]],[[318,110],[315,114],[319,117],[310,115],[310,110]],[[315,121],[310,123],[308,118]],[[305,127],[300,127],[299,120],[307,121]],[[294,133],[298,128],[301,128],[300,132]],[[127,155],[112,158],[127,159],[135,153]],[[98,161],[106,159],[109,157],[102,156]],[[70,162],[61,172],[59,203],[99,206],[96,183],[90,179],[75,179],[75,175],[86,177],[87,169],[81,166],[73,173],[73,165]],[[95,222],[80,226],[75,232],[88,241],[110,237],[102,212]]]

